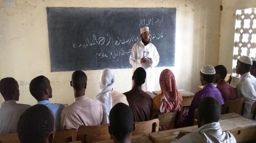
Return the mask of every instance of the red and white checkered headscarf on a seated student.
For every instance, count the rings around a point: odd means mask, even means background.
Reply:
[[[164,96],[161,98],[160,111],[164,113],[180,111],[180,100],[178,99],[178,90],[173,72],[169,69],[163,70],[159,82],[162,96]]]

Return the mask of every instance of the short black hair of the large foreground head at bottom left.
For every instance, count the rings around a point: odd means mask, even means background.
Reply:
[[[45,105],[37,104],[25,110],[17,123],[20,143],[46,143],[54,130],[54,117]]]

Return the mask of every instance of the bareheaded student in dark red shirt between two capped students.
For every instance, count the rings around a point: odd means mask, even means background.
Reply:
[[[217,65],[215,69],[215,78],[214,83],[217,83],[217,89],[221,92],[221,95],[226,100],[235,100],[236,99],[236,88],[232,85],[226,83],[224,80],[227,75],[227,69],[224,65]]]

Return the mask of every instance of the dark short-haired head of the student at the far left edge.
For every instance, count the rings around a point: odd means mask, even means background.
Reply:
[[[3,78],[0,80],[0,92],[5,101],[19,100],[19,85],[14,78]]]

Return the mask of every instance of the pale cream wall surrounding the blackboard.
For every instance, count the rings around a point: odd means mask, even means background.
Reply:
[[[176,7],[175,66],[168,68],[174,72],[178,89],[196,92],[202,65],[218,63],[220,5],[221,0],[16,0],[15,7],[0,8],[0,78],[15,78],[20,85],[19,103],[33,105],[29,83],[45,75],[53,89],[51,101],[70,104],[72,71],[50,72],[46,7]],[[156,89],[160,89],[158,77],[163,69],[156,68]],[[132,69],[113,71],[114,89],[130,90]],[[101,72],[85,71],[90,97],[98,93]]]

